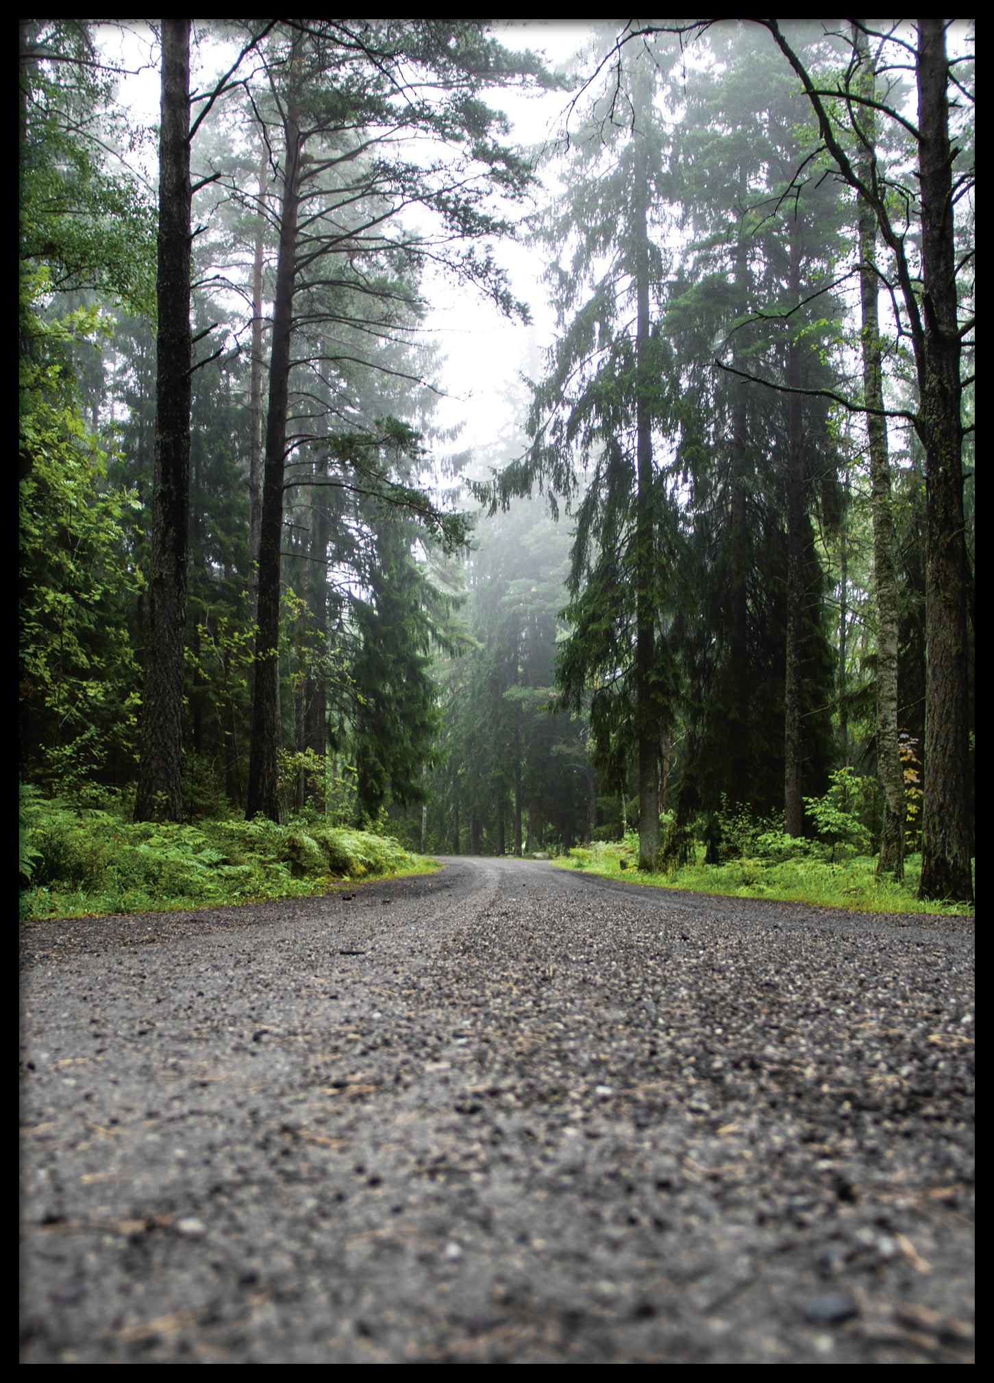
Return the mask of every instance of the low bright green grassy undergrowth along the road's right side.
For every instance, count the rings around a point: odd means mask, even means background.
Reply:
[[[812,903],[818,907],[852,907],[864,913],[951,913],[972,914],[962,903],[919,902],[918,880],[921,856],[904,860],[904,881],[878,880],[874,856],[857,855],[841,862],[825,857],[824,849],[810,841],[787,845],[763,856],[742,856],[722,864],[704,863],[704,846],[693,846],[693,863],[659,874],[643,874],[639,864],[639,838],[633,833],[621,842],[596,842],[576,846],[556,860],[560,867],[586,870],[606,878],[623,878],[657,888],[679,888],[695,893],[722,893],[726,898],[769,898],[785,903]]]

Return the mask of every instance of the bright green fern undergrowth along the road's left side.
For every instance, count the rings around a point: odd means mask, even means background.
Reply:
[[[135,824],[30,791],[21,801],[22,921],[301,898],[341,880],[437,867],[393,837],[304,817]]]

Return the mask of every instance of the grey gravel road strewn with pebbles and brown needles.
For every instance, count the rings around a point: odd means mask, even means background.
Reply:
[[[970,1362],[973,920],[452,859],[21,928],[24,1362]]]

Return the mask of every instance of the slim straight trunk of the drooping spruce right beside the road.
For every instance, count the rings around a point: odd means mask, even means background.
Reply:
[[[646,203],[648,188],[643,158],[644,131],[632,131],[636,141],[635,207],[632,235],[636,272],[636,447],[637,495],[635,516],[636,544],[636,725],[639,740],[639,869],[655,871],[659,863],[659,730],[657,697],[653,692],[655,662],[655,582],[653,519],[653,415],[648,362],[648,227]]]

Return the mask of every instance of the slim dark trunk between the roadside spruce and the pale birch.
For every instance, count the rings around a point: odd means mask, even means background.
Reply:
[[[800,286],[800,231],[791,241],[788,300]],[[794,332],[792,326],[788,331]],[[787,384],[802,387],[800,343],[787,347]],[[805,804],[800,781],[800,660],[805,600],[805,419],[800,394],[787,397],[787,660],[784,674],[784,826],[800,835]]]

